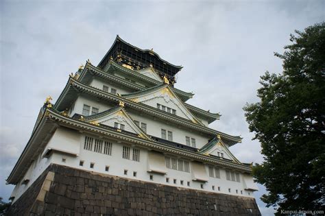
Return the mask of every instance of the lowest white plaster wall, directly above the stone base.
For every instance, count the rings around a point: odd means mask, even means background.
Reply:
[[[245,185],[243,182],[243,175],[241,174],[241,182],[232,182],[226,180],[226,171],[224,169],[220,169],[220,176],[221,178],[210,178],[208,177],[208,182],[195,182],[192,180],[192,173],[186,173],[184,171],[177,171],[173,169],[167,169],[166,175],[160,175],[156,173],[148,173],[147,172],[147,149],[136,147],[132,145],[128,145],[128,143],[118,143],[116,141],[112,142],[112,155],[101,154],[97,152],[92,152],[84,149],[84,139],[87,134],[79,134],[80,136],[80,155],[79,156],[72,156],[69,154],[64,154],[62,152],[53,152],[49,158],[40,158],[36,160],[36,163],[32,164],[29,167],[29,171],[27,174],[30,178],[30,181],[27,185],[17,184],[14,191],[12,192],[12,196],[15,197],[17,200],[21,194],[23,194],[26,189],[40,176],[40,174],[51,164],[55,163],[58,165],[64,165],[69,167],[74,167],[76,169],[84,169],[86,171],[95,171],[98,173],[106,173],[112,176],[120,176],[123,178],[131,178],[136,180],[143,180],[146,182],[154,182],[158,184],[167,184],[174,187],[184,187],[184,188],[191,188],[203,191],[210,191],[215,193],[226,193],[231,195],[241,195],[241,196],[248,196],[253,197],[253,193],[251,191],[245,191]],[[89,135],[91,136],[91,135]],[[91,136],[94,139],[99,137]],[[106,141],[110,141],[109,139],[105,139],[101,137],[100,139],[104,139]],[[69,143],[67,143],[69,145]],[[127,160],[122,158],[122,149],[123,145],[127,145],[131,147],[130,151],[130,158],[132,158],[132,148],[135,147],[140,149],[140,161],[136,162],[134,160]],[[172,156],[172,155],[169,155]],[[173,157],[178,157],[174,155]],[[64,158],[65,160],[62,160]],[[84,165],[80,166],[80,160],[84,161]],[[182,160],[186,160],[182,158]],[[94,168],[90,167],[91,163],[95,163]],[[105,171],[105,167],[109,166],[109,171]],[[191,166],[191,162],[190,162]],[[208,165],[205,165],[206,173],[208,174]],[[124,174],[124,169],[128,170],[128,175]],[[191,170],[191,167],[190,167]],[[133,171],[136,171],[136,177],[133,176]],[[150,175],[154,176],[153,180],[150,180]],[[166,182],[166,178],[169,178],[169,182]],[[247,175],[245,178],[252,178],[248,177]],[[173,183],[173,179],[176,179],[176,184]],[[180,184],[180,180],[184,181],[184,184]],[[190,186],[187,186],[187,182],[190,182]],[[201,189],[201,184],[204,185],[204,189]],[[215,186],[215,191],[213,191],[212,186]],[[218,191],[218,187],[221,188]],[[231,189],[230,193],[228,189]],[[236,193],[236,189],[238,193]],[[243,194],[241,194],[243,191]],[[249,194],[250,193],[250,194]],[[14,200],[14,201],[15,201]]]

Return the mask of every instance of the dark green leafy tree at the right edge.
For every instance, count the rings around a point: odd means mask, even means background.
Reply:
[[[243,108],[264,155],[253,176],[268,191],[261,200],[278,213],[325,208],[325,23],[290,40],[275,53],[282,73],[261,76],[260,101]]]

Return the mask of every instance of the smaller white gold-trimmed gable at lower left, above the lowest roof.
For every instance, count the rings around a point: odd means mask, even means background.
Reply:
[[[143,130],[141,130],[141,128],[134,123],[122,106],[113,110],[101,112],[95,116],[91,116],[86,121],[93,124],[117,128],[118,130],[138,134],[142,138],[149,139],[147,134],[145,134],[145,132],[143,132]]]

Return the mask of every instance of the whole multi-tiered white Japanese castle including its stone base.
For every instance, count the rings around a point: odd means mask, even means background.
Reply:
[[[220,115],[187,102],[181,69],[117,36],[71,73],[7,178],[8,215],[261,215],[229,149],[242,138],[209,127]]]

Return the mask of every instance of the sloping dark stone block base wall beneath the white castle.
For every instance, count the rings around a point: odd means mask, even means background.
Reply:
[[[8,215],[261,215],[254,198],[50,165]]]

